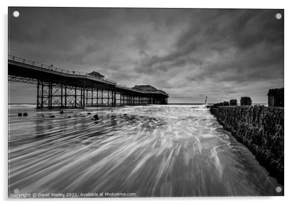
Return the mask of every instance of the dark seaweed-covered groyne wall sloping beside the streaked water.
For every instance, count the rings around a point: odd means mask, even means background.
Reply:
[[[284,184],[284,107],[219,106],[210,112]]]

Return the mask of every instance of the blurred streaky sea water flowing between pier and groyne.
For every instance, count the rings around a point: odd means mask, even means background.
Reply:
[[[275,191],[283,186],[201,105],[59,111],[9,105],[9,195],[15,189],[74,197],[283,195]]]

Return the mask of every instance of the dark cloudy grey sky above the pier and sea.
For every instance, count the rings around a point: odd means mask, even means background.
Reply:
[[[18,18],[12,17],[19,11]],[[150,84],[169,102],[267,103],[284,86],[283,10],[10,8],[9,54]],[[10,82],[10,102],[36,102],[36,85]]]

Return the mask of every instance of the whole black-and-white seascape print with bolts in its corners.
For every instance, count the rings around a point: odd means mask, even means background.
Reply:
[[[8,7],[8,199],[284,196],[284,17]]]

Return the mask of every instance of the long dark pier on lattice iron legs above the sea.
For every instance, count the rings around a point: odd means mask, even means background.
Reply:
[[[8,80],[36,84],[37,108],[168,104],[169,95],[153,86],[131,88],[95,73],[69,71],[8,56]]]

